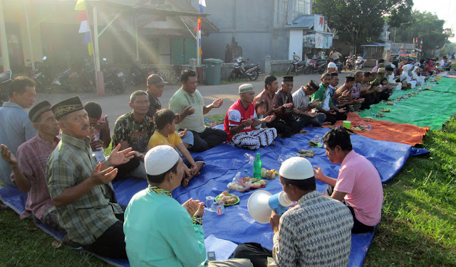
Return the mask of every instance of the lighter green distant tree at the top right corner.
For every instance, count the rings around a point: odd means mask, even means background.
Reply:
[[[413,38],[423,39],[423,57],[434,56],[435,50],[450,43],[450,29],[444,29],[445,21],[430,12],[413,11],[407,23],[391,28],[391,40],[395,43],[413,43]]]

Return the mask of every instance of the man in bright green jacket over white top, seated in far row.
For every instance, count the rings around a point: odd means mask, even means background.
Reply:
[[[338,120],[347,119],[347,115],[345,114],[345,108],[339,109],[338,107],[334,106],[333,100],[331,99],[330,92],[328,90],[330,82],[331,74],[328,72],[323,73],[323,75],[321,75],[320,89],[312,94],[312,101],[318,99],[317,101],[321,102],[321,104],[316,108],[318,112],[326,114],[325,121],[329,121],[331,124],[335,124]]]

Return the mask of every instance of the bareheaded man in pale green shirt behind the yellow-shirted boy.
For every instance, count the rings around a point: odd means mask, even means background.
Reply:
[[[204,105],[204,99],[197,90],[198,80],[197,73],[193,70],[184,70],[180,76],[182,87],[175,92],[170,99],[170,110],[175,114],[181,114],[181,121],[177,124],[177,129],[182,131],[187,129],[192,131],[194,143],[190,151],[202,152],[209,148],[218,146],[227,140],[227,133],[220,129],[204,126],[204,114],[207,114],[212,108],[219,108],[223,104],[222,99],[216,99],[209,106]],[[193,114],[182,112],[187,107],[195,109]]]

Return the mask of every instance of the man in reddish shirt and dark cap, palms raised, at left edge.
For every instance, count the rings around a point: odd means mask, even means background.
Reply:
[[[28,118],[38,134],[19,146],[16,157],[2,144],[1,158],[13,169],[11,180],[21,192],[27,193],[21,219],[32,214],[48,227],[64,231],[58,224],[56,207],[49,196],[46,183],[46,163],[60,141],[60,128],[51,111],[51,104],[47,101],[36,104],[28,112]]]

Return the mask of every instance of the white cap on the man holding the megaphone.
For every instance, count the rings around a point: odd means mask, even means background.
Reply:
[[[306,158],[294,157],[282,163],[279,175],[289,180],[306,180],[314,177],[314,168]]]

